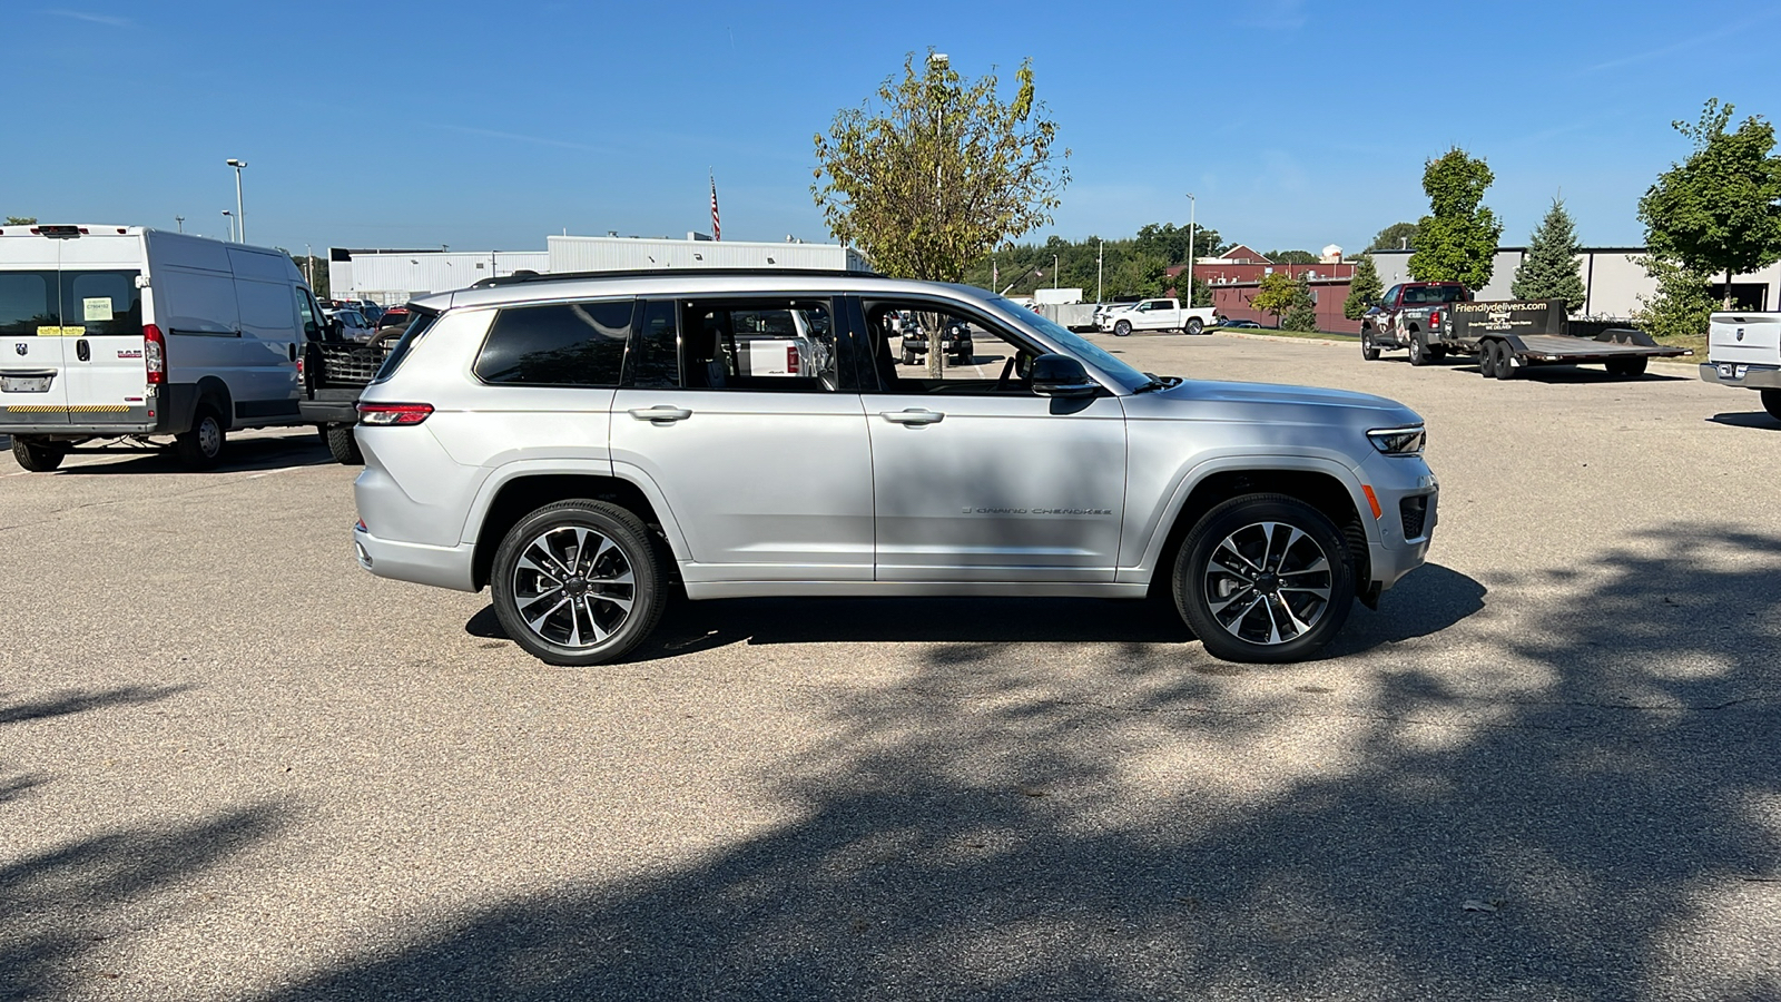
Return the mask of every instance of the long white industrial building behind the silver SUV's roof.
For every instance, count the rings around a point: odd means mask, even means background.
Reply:
[[[869,271],[866,255],[841,244],[670,237],[552,235],[541,251],[447,251],[328,248],[328,289],[337,300],[406,303],[411,296],[463,289],[516,271],[632,271],[655,267],[814,267]]]

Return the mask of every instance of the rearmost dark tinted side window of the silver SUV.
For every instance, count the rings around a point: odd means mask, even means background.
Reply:
[[[616,387],[634,303],[609,300],[500,310],[474,371],[484,383]]]

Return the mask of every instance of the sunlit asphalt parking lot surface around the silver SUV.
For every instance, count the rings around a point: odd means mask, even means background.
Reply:
[[[1756,394],[1099,344],[1409,403],[1430,565],[1289,667],[835,599],[563,670],[360,572],[313,433],[0,464],[0,997],[1781,997]]]

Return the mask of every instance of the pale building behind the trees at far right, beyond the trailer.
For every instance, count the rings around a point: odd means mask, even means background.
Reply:
[[[1414,282],[1409,262],[1416,251],[1377,250],[1368,253],[1373,259],[1373,267],[1378,269],[1380,283],[1387,289],[1398,282]],[[1585,292],[1583,308],[1578,312],[1589,317],[1614,319],[1626,319],[1639,312],[1640,300],[1651,300],[1658,292],[1656,280],[1646,275],[1639,264],[1644,255],[1646,248],[1578,250],[1576,260]],[[1514,283],[1516,269],[1521,267],[1525,257],[1528,257],[1528,248],[1496,248],[1491,283],[1478,289],[1475,296],[1478,300],[1514,300],[1509,287]],[[1724,283],[1724,276],[1719,278],[1719,283]],[[1731,292],[1745,308],[1774,308],[1774,303],[1781,303],[1781,264],[1770,264],[1751,275],[1735,275]]]

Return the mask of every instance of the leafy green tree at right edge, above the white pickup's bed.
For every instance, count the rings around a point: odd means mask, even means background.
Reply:
[[[1701,121],[1672,121],[1694,153],[1658,175],[1639,200],[1646,244],[1685,271],[1731,276],[1781,260],[1781,157],[1774,125],[1751,116],[1726,132],[1733,105],[1706,102]]]

